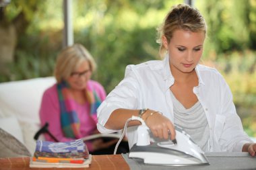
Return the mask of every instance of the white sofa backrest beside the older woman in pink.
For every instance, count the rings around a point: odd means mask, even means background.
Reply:
[[[1,117],[15,115],[18,120],[39,124],[42,94],[53,83],[53,77],[0,83]]]

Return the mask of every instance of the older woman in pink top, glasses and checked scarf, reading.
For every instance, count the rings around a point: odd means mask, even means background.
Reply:
[[[94,59],[81,44],[63,49],[57,57],[54,73],[57,83],[44,92],[40,120],[42,125],[49,123],[49,132],[59,142],[98,132],[96,109],[106,93],[100,83],[90,79],[95,69]],[[48,134],[45,138],[54,141]],[[116,142],[97,139],[86,145],[90,153],[112,154],[113,151],[107,150]]]

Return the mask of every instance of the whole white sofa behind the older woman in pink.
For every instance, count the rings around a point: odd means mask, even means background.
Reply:
[[[55,82],[54,77],[40,77],[0,83],[0,128],[24,144],[31,154],[36,146],[34,135],[40,129],[42,94]]]

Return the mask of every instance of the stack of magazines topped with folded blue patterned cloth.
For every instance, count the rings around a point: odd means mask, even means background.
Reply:
[[[70,142],[36,141],[30,167],[89,167],[92,155],[82,139]]]

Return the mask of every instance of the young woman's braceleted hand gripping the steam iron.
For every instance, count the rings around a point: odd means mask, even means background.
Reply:
[[[145,121],[152,134],[158,138],[174,140],[176,136],[175,128],[172,122],[163,116],[160,112],[148,110],[141,118]],[[154,113],[154,114],[152,114]]]

